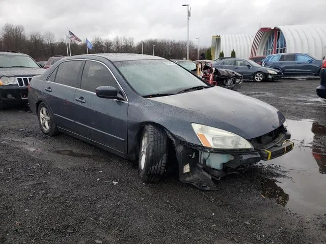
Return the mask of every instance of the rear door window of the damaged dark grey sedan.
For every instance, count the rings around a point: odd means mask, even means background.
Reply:
[[[80,67],[82,67],[82,60],[66,61],[59,65],[57,68],[56,83],[69,85],[72,87],[77,86],[78,75]]]

